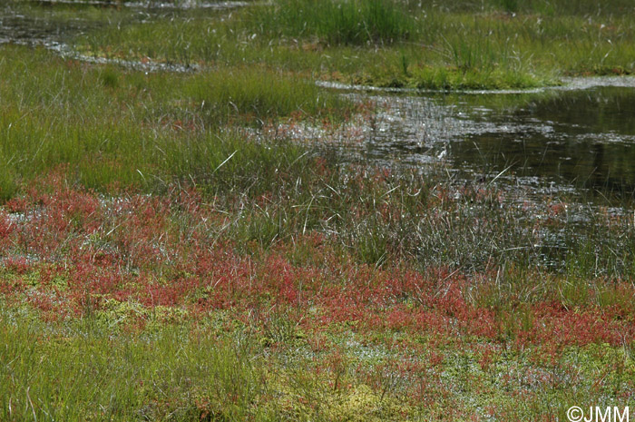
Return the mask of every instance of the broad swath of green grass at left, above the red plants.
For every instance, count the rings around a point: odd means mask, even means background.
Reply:
[[[337,120],[352,110],[337,93],[266,69],[142,74],[83,68],[24,47],[2,51],[3,199],[61,166],[71,182],[97,189],[243,174],[260,176],[259,186],[304,151],[249,142],[226,124],[275,123],[290,114]]]

